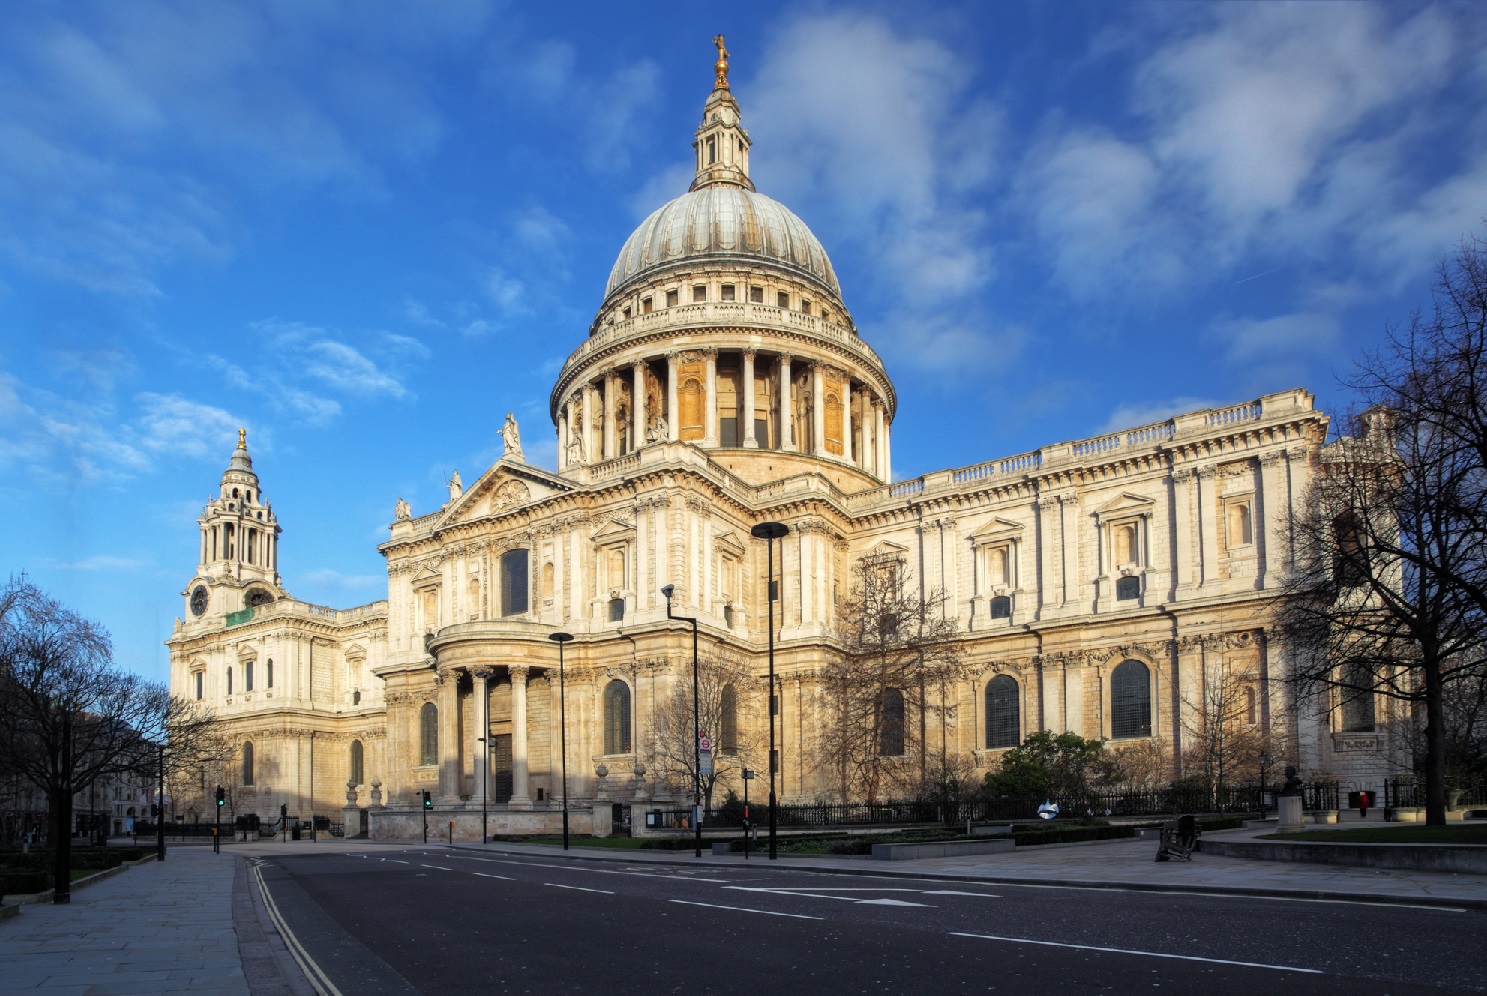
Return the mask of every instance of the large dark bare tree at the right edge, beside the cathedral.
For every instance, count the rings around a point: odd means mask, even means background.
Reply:
[[[1447,688],[1480,678],[1487,639],[1487,244],[1441,265],[1430,312],[1352,387],[1368,407],[1291,517],[1279,624],[1298,696],[1362,719],[1377,697],[1423,711],[1426,822],[1444,824]]]

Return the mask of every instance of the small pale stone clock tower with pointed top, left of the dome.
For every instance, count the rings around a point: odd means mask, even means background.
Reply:
[[[201,557],[187,586],[186,618],[241,612],[284,595],[278,574],[278,519],[263,501],[248,456],[248,433],[238,430],[219,494],[201,510]]]

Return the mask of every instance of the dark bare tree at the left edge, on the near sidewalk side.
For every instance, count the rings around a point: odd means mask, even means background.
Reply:
[[[170,693],[113,667],[109,635],[24,577],[0,596],[0,769],[48,800],[57,902],[70,899],[73,795],[137,770]]]

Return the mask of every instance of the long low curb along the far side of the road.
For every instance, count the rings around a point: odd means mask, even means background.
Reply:
[[[476,853],[503,853],[515,856],[532,856],[529,850],[500,850],[497,847],[479,847],[473,844],[439,844],[445,849],[452,850],[471,850]],[[561,852],[559,852],[561,853]],[[625,861],[625,858],[613,858],[607,855],[575,855],[568,850],[567,856],[572,861]],[[633,859],[632,859],[633,861]],[[965,874],[950,874],[950,873],[935,873],[935,871],[909,871],[900,868],[836,868],[831,865],[807,865],[794,864],[810,861],[809,856],[797,856],[791,861],[788,867],[779,864],[760,864],[757,871],[779,871],[788,868],[790,871],[813,871],[816,874],[827,876],[855,876],[865,879],[920,879],[925,882],[962,882],[962,883],[984,883],[984,885],[999,885],[999,886],[1030,886],[1044,887],[1054,886],[1059,889],[1100,889],[1106,892],[1154,892],[1154,893],[1178,893],[1178,895],[1218,895],[1218,896],[1242,896],[1252,899],[1315,899],[1322,902],[1362,902],[1370,905],[1416,905],[1416,907],[1432,907],[1432,908],[1450,908],[1450,910],[1480,910],[1487,911],[1487,899],[1444,899],[1439,896],[1407,896],[1407,895],[1387,895],[1378,892],[1328,892],[1322,889],[1254,889],[1246,886],[1190,886],[1190,885],[1152,885],[1149,882],[1077,882],[1069,879],[1013,879],[1008,876],[965,876]],[[674,858],[645,858],[639,864],[647,865],[666,865],[678,868],[696,868],[699,862],[696,858],[690,861],[677,861]],[[735,862],[727,862],[732,868]],[[885,862],[886,864],[886,862]],[[711,865],[717,868],[718,865]]]

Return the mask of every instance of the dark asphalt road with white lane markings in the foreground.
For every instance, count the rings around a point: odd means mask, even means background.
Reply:
[[[1487,914],[443,847],[266,859],[351,993],[1487,992]]]

